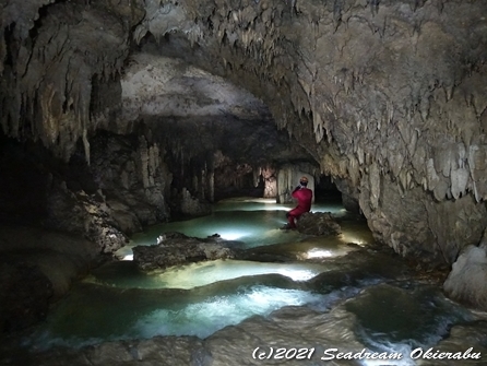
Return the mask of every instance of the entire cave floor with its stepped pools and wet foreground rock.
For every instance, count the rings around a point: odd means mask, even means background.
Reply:
[[[391,365],[423,365],[425,359],[409,357],[413,350],[486,351],[485,335],[475,342],[464,337],[482,333],[486,315],[446,298],[443,273],[417,271],[373,243],[366,222],[336,204],[313,206],[337,217],[343,233],[336,237],[280,231],[288,208],[265,200],[225,201],[212,215],[134,235],[120,258],[130,258],[131,246],[178,231],[197,237],[218,233],[251,250],[254,260],[150,273],[130,260],[102,265],[22,338],[21,350],[27,352],[11,349],[2,364],[52,365],[57,355],[72,365],[115,365],[120,357],[127,365],[165,365],[162,359],[168,362],[180,347],[182,358],[173,359],[175,365],[261,365],[253,358],[257,347],[300,346],[310,357],[297,365],[322,365],[318,354],[332,347],[395,352],[404,357]],[[342,364],[371,365],[336,362]]]

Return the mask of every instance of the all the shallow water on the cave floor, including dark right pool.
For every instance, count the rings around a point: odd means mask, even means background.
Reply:
[[[366,223],[347,219],[340,205],[313,206],[341,217],[343,234],[336,237],[280,231],[288,208],[265,200],[225,201],[212,215],[134,235],[119,255],[128,257],[134,245],[155,244],[167,232],[195,237],[218,233],[238,240],[241,248],[295,260],[216,260],[151,273],[129,260],[108,263],[74,285],[24,344],[46,350],[155,335],[204,339],[254,315],[306,306],[320,314],[345,314],[349,326],[326,329],[332,340],[353,339],[369,350],[406,354],[437,344],[455,324],[483,318],[444,298],[438,288],[413,281],[401,259],[368,249],[372,236]]]

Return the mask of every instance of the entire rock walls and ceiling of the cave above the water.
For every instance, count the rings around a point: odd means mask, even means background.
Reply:
[[[212,201],[225,167],[251,168],[229,188],[305,164],[401,255],[451,264],[478,246],[484,0],[0,4],[5,221],[110,252],[188,192]],[[29,189],[38,204],[16,205]]]

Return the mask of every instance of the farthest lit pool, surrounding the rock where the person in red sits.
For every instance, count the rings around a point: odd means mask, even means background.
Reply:
[[[286,223],[285,212],[289,204],[271,203],[265,199],[240,199],[218,202],[211,215],[188,221],[154,225],[143,233],[133,235],[130,245],[120,250],[121,257],[130,255],[130,247],[156,244],[161,234],[183,233],[187,236],[205,238],[219,234],[223,239],[242,241],[243,248],[253,248],[272,244],[300,241],[306,235],[296,231],[281,231]],[[346,214],[337,204],[313,204],[312,212],[331,212],[335,217]],[[364,222],[344,222],[344,234],[325,239],[329,244],[371,243],[372,236]],[[323,239],[323,238],[321,238]]]

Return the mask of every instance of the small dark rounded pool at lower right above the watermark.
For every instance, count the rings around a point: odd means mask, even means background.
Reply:
[[[473,320],[465,308],[448,300],[438,288],[401,288],[381,284],[346,303],[356,316],[355,332],[370,347],[403,344],[431,346],[448,334],[453,323]]]

